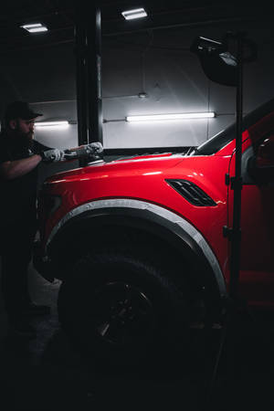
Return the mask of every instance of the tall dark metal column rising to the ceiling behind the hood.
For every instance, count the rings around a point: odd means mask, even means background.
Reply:
[[[75,4],[79,145],[102,142],[100,8]],[[81,164],[84,165],[84,164]]]

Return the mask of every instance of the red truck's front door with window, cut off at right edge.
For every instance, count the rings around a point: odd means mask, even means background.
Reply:
[[[274,308],[274,116],[243,134],[239,291],[250,305]],[[230,176],[235,175],[235,154]],[[228,194],[232,224],[233,190]]]

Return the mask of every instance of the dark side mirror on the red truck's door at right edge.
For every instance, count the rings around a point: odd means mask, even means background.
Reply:
[[[274,134],[269,134],[248,162],[248,173],[260,184],[274,182]]]

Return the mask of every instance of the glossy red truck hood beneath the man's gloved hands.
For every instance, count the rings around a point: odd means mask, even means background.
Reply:
[[[74,180],[78,177],[92,178],[94,174],[139,174],[144,170],[149,172],[162,171],[174,167],[184,159],[183,154],[163,153],[137,156],[130,159],[115,160],[110,163],[96,161],[86,167],[76,168],[66,172],[54,174],[47,178],[47,183],[55,183],[60,180]]]

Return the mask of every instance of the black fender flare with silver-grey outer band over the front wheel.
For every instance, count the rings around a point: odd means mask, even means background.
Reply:
[[[47,239],[47,255],[54,253],[58,244],[66,241],[76,227],[91,225],[99,229],[106,225],[138,227],[162,237],[213,279],[220,298],[227,297],[222,270],[205,237],[183,216],[142,200],[111,198],[92,201],[72,209],[53,227]]]

